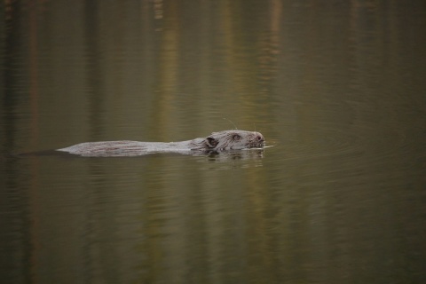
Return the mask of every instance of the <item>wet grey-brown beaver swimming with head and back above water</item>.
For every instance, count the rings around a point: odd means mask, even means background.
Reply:
[[[256,131],[224,130],[213,132],[206,138],[180,142],[103,141],[86,142],[56,151],[94,156],[138,156],[153,153],[210,154],[229,150],[263,148],[264,136]]]

